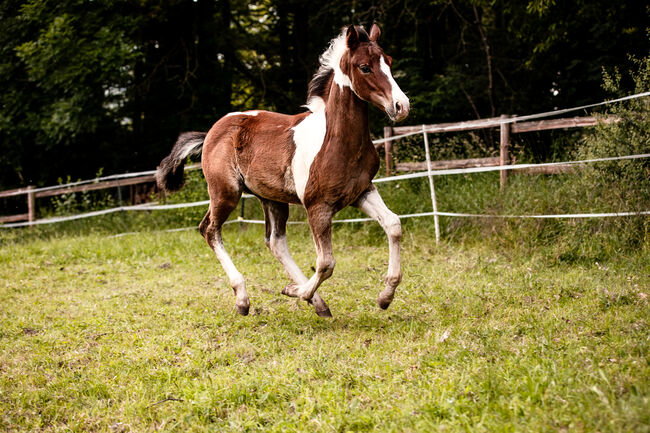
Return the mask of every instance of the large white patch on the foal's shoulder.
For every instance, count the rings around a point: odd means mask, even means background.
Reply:
[[[309,168],[325,140],[325,110],[321,109],[311,113],[291,129],[293,130],[293,141],[296,144],[296,152],[291,160],[291,171],[296,194],[300,201],[303,201],[305,187],[309,180]]]

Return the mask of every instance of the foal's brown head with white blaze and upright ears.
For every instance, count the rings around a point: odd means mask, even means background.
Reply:
[[[346,36],[348,49],[340,63],[342,76],[335,76],[334,80],[348,84],[359,98],[371,102],[391,120],[399,122],[409,114],[409,99],[393,78],[393,59],[377,43],[380,35],[377,24],[372,25],[370,34],[361,27],[350,26]]]

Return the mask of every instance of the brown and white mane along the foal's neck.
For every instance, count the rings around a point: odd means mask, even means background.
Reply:
[[[363,27],[357,26],[356,29],[359,32],[359,39],[362,42],[368,42],[370,40],[368,33],[366,33]],[[309,82],[307,105],[305,105],[312,112],[317,109],[316,107],[320,105],[319,103],[321,101],[326,99],[330,80],[334,75],[335,69],[339,68],[341,57],[343,57],[347,49],[346,40],[347,27],[344,27],[341,33],[330,41],[329,46],[318,59],[320,66]],[[316,98],[320,98],[321,101],[318,101]]]

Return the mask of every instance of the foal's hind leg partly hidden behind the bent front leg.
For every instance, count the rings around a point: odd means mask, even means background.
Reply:
[[[306,284],[308,281],[307,277],[305,277],[300,268],[298,268],[298,265],[296,265],[296,262],[294,262],[287,244],[286,228],[287,219],[289,218],[289,205],[262,199],[260,201],[264,208],[266,222],[266,245],[278,261],[282,263],[282,266],[294,283],[299,285]],[[314,310],[319,316],[332,317],[327,303],[320,297],[318,292],[315,292],[314,296],[308,302],[314,306]]]

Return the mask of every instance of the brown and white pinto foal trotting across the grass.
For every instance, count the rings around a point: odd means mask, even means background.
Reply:
[[[388,236],[388,273],[378,303],[385,309],[393,300],[402,278],[402,228],[371,183],[379,157],[370,139],[368,103],[400,121],[409,113],[409,100],[393,79],[392,59],[377,44],[379,35],[376,24],[370,34],[350,26],[330,42],[309,84],[309,111],[229,113],[207,134],[181,134],[158,167],[159,187],[180,189],[186,157],[202,152],[210,209],[199,230],[228,274],[240,314],[248,314],[250,301],[244,278],[224,249],[221,226],[244,191],[262,203],[266,245],[293,281],[283,294],[310,302],[319,316],[331,316],[316,289],[334,269],[332,217],[352,205],[377,220]],[[290,203],[307,210],[316,245],[316,271],[309,279],[287,248]]]

